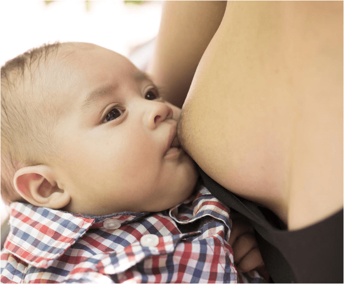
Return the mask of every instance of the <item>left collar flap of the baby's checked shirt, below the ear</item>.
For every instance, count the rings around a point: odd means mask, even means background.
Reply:
[[[101,228],[103,221],[116,218],[133,222],[147,213],[120,212],[106,216],[72,214],[32,204],[10,205],[11,226],[4,248],[36,267],[47,268],[90,228]]]

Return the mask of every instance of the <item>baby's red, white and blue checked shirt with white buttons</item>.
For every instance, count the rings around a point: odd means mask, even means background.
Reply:
[[[227,242],[229,210],[202,186],[158,213],[99,217],[20,202],[10,210],[1,283],[243,281]]]

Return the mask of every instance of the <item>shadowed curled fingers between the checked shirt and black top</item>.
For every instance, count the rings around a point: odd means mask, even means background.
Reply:
[[[232,229],[229,245],[233,248],[234,263],[239,272],[257,270],[265,279],[269,274],[254,237],[254,230],[247,218],[240,214],[231,214]]]

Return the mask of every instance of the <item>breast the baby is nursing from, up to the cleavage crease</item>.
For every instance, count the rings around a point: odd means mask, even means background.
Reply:
[[[231,2],[182,108],[179,140],[222,186],[282,202],[292,128],[290,81],[275,2]],[[273,23],[273,24],[272,24]]]

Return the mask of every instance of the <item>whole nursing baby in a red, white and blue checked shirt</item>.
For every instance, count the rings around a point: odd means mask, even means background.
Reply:
[[[44,45],[3,66],[1,283],[239,281],[229,211],[196,186],[179,114],[94,44]]]

